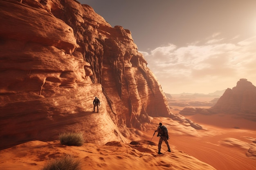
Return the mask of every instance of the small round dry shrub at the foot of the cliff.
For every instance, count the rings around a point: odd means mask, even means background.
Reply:
[[[63,132],[59,135],[62,145],[67,146],[82,146],[83,133],[82,132]]]

